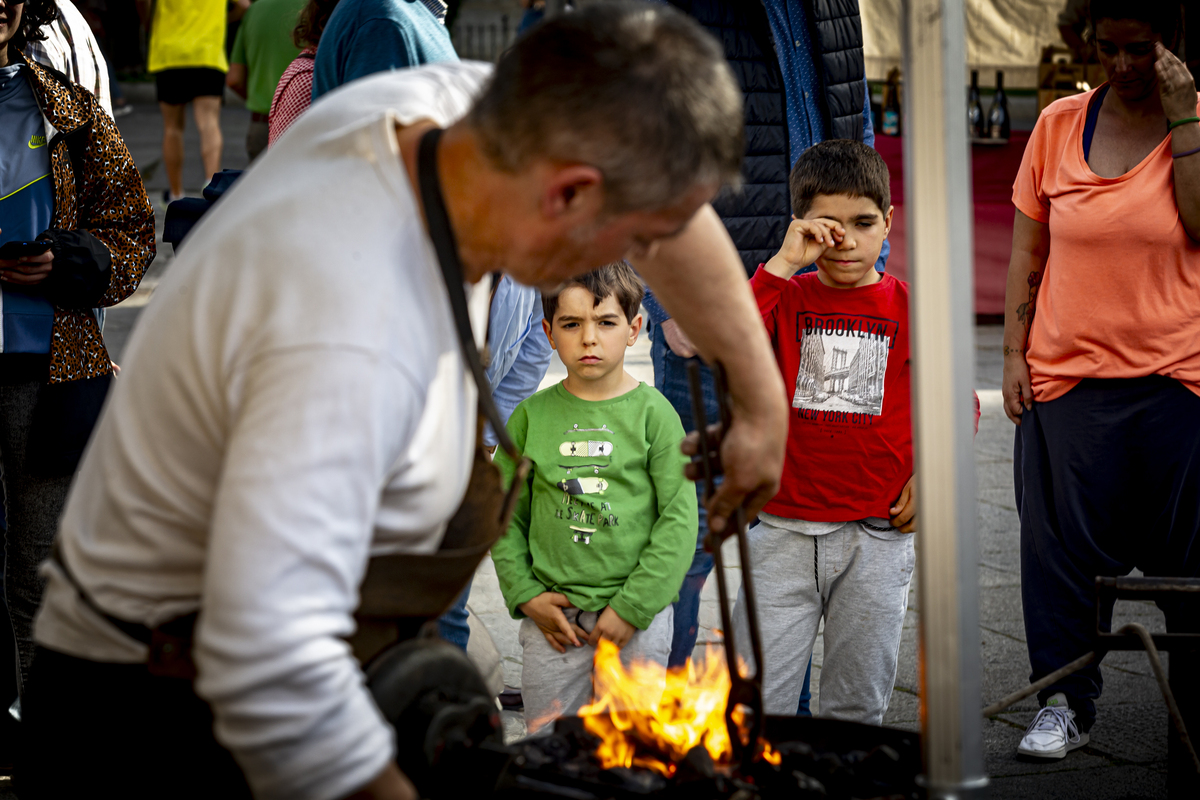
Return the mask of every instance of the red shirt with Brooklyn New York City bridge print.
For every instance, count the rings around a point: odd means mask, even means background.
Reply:
[[[763,511],[887,518],[912,476],[908,284],[830,289],[760,266],[750,287],[792,401],[782,486]]]

